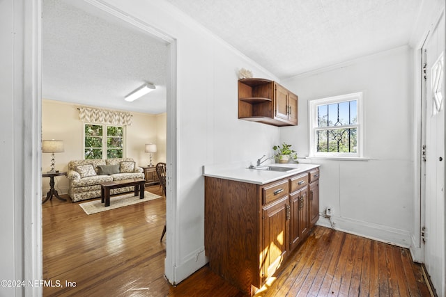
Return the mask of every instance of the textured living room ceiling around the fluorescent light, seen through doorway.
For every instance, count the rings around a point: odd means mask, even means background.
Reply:
[[[100,11],[71,5],[79,2],[43,1],[43,98],[165,112],[166,42]],[[145,82],[156,90],[134,102],[124,100]]]

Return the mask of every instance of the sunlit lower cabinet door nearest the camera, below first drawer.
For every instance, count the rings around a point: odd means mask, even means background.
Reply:
[[[291,216],[289,207],[289,196],[286,195],[279,200],[263,206],[263,259],[261,269],[263,281],[277,270],[286,257],[288,249],[289,218]]]

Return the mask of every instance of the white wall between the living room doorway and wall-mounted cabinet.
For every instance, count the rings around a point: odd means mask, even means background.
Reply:
[[[167,201],[165,268],[169,280],[178,283],[207,262],[202,166],[255,160],[272,154],[272,145],[279,141],[279,128],[238,120],[237,71],[245,67],[254,77],[275,77],[164,1],[107,3],[170,35],[178,46],[177,175],[171,181],[177,194]]]

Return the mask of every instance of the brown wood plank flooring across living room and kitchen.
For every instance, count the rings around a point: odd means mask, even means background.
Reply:
[[[244,296],[208,266],[176,287],[164,279],[164,199],[90,216],[78,204],[43,204],[43,278],[54,284],[43,296]],[[407,249],[316,226],[256,296],[430,294]]]

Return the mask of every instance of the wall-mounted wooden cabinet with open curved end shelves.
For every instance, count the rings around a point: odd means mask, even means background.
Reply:
[[[298,96],[269,79],[240,79],[238,118],[274,126],[298,125]]]

